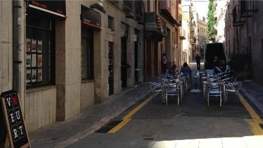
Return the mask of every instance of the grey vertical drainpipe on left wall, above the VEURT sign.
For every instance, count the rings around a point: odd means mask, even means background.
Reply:
[[[14,71],[13,89],[21,94],[21,0],[13,1],[14,6]]]

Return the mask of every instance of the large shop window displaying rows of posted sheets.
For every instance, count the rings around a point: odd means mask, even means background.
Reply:
[[[54,22],[48,15],[26,16],[26,88],[55,83]]]

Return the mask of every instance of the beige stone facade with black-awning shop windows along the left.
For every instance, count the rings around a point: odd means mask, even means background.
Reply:
[[[143,1],[21,3],[19,98],[28,130],[72,118],[143,82]],[[3,92],[14,83],[13,1],[0,1],[0,9]]]

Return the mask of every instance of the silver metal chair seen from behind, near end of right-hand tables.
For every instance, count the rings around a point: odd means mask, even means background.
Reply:
[[[221,90],[220,85],[218,85],[218,84],[210,84],[209,85],[208,93],[207,93],[208,106],[209,106],[209,97],[210,96],[215,96],[215,97],[220,96],[220,106],[222,106],[222,90]]]

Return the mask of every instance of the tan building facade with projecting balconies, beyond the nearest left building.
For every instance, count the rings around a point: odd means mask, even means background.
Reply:
[[[162,55],[167,57],[167,68],[177,66],[181,56],[179,45],[180,0],[144,1],[146,30],[146,77],[162,72]],[[153,64],[152,64],[153,63]]]

